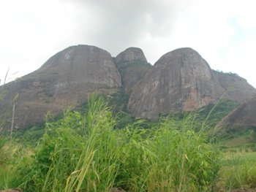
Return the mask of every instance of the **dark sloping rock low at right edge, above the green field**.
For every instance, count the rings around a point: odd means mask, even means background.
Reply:
[[[256,127],[256,96],[240,104],[219,125],[228,129]]]

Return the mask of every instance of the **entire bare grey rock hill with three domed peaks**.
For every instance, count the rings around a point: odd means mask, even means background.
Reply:
[[[129,47],[113,58],[99,47],[78,45],[53,55],[37,71],[1,86],[0,120],[10,127],[13,103],[15,127],[22,128],[44,120],[48,111],[56,115],[82,104],[91,93],[116,91],[126,97],[118,101],[126,102],[129,97],[128,110],[133,116],[149,119],[197,110],[223,94],[241,103],[256,93],[238,75],[214,72],[191,48],[166,53],[151,66],[140,48]]]

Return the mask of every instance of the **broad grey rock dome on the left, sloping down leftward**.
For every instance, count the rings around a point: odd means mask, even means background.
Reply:
[[[15,126],[43,120],[46,112],[62,112],[88,99],[94,91],[108,93],[121,86],[121,77],[110,53],[98,47],[78,45],[53,55],[37,71],[1,87],[4,102],[0,114],[18,94]],[[4,106],[3,106],[4,105]],[[9,114],[6,111],[6,114]]]

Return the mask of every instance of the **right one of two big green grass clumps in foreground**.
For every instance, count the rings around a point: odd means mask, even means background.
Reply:
[[[211,191],[218,153],[192,118],[165,119],[151,130],[135,130],[127,142],[122,177],[129,191]],[[132,158],[131,158],[132,157]]]

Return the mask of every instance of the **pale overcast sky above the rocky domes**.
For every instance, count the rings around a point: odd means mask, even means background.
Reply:
[[[0,79],[38,69],[71,45],[94,45],[116,56],[140,47],[154,64],[192,47],[212,69],[256,87],[255,0],[1,0]]]

